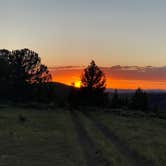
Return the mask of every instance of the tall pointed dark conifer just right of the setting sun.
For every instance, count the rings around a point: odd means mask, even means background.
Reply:
[[[107,94],[104,93],[106,78],[104,73],[91,61],[84,69],[81,76],[81,89],[79,91],[80,102],[88,105],[102,105],[107,101]]]

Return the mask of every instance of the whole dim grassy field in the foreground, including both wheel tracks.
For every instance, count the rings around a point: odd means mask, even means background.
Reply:
[[[166,120],[87,109],[0,108],[0,166],[163,166]]]

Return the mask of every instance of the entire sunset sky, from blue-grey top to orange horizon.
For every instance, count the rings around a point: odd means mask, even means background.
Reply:
[[[165,16],[165,0],[0,0],[0,46],[38,52],[55,81],[94,59],[108,87],[166,89]]]

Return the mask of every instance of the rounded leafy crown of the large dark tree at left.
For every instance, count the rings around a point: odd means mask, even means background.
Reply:
[[[47,66],[41,64],[37,53],[29,49],[12,51],[9,56],[11,77],[18,84],[45,83],[51,80]]]

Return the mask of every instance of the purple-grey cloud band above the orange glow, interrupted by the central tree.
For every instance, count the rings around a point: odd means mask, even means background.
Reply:
[[[52,73],[82,73],[84,66],[59,66],[49,68]],[[166,81],[166,66],[112,66],[101,67],[107,77],[116,80]],[[59,73],[59,74],[60,74]],[[77,74],[77,75],[78,75]]]

